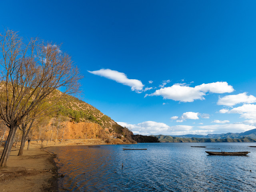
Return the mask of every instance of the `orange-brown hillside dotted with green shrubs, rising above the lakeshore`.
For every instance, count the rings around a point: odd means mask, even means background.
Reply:
[[[51,96],[51,102],[56,94]],[[47,103],[46,103],[47,104]],[[4,136],[3,136],[4,135]],[[0,126],[0,140],[6,139],[8,129]],[[16,140],[21,138],[18,130]],[[52,112],[37,120],[30,131],[29,138],[36,140],[62,139],[122,139],[124,142],[134,142],[132,132],[118,125],[109,116],[100,112],[92,105],[73,96],[67,96],[56,103]],[[3,137],[2,137],[3,136]]]

